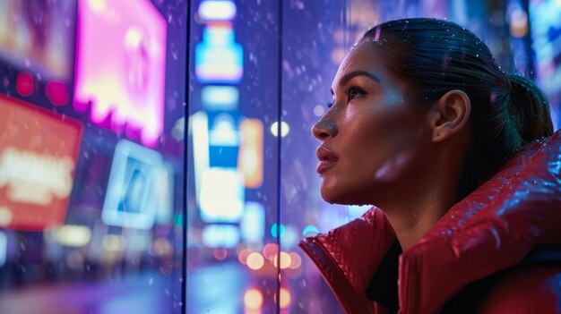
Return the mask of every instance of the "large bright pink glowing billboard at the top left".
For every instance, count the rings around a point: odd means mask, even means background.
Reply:
[[[163,132],[166,20],[149,0],[80,0],[74,108],[112,130]]]

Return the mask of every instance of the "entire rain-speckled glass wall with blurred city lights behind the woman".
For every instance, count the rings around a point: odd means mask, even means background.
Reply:
[[[535,17],[558,9],[0,0],[0,312],[342,312],[297,243],[367,210],[315,174],[345,52],[382,21],[456,21],[555,114],[559,32]]]

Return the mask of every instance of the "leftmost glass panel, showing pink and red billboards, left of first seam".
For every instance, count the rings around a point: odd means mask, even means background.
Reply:
[[[186,35],[183,0],[0,0],[0,312],[182,311]]]

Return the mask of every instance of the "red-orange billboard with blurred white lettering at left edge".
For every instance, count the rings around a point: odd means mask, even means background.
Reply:
[[[64,222],[82,124],[0,96],[0,226],[45,230]]]

